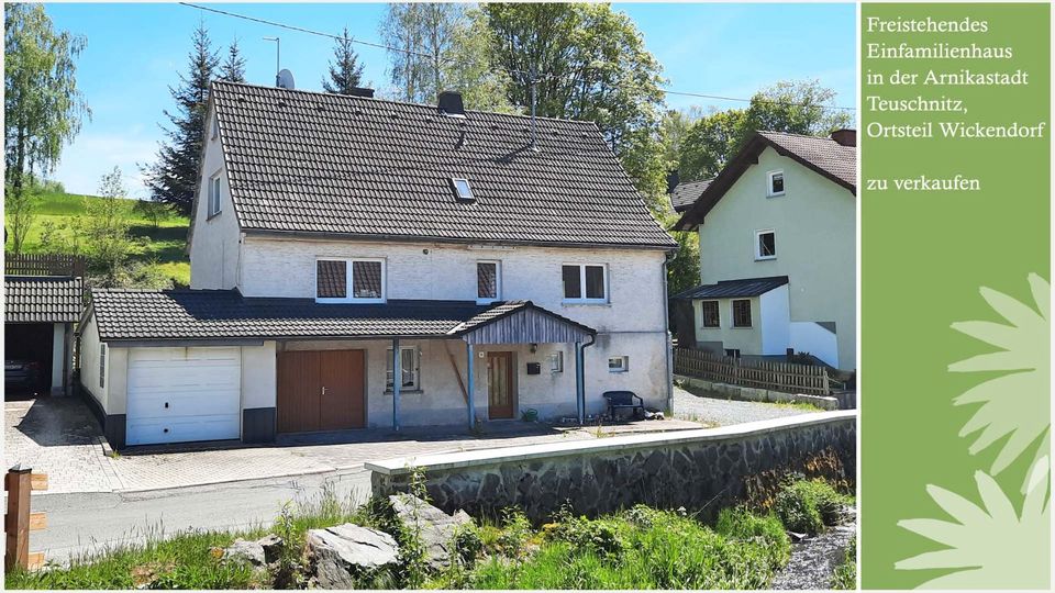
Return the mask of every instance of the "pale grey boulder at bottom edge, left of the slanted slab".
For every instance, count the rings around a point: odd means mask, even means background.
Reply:
[[[354,589],[355,574],[399,562],[399,546],[392,536],[352,523],[310,529],[307,539],[320,589]]]

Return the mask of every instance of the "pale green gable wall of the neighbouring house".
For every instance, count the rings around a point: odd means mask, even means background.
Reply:
[[[784,171],[785,195],[766,197],[773,170]],[[856,204],[845,188],[765,149],[699,227],[701,283],[789,277],[791,321],[834,322],[840,367],[855,368]],[[755,233],[763,230],[775,231],[777,257],[756,261]]]

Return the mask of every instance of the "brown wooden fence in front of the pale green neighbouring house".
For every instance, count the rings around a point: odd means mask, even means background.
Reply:
[[[709,381],[807,395],[830,395],[828,369],[809,365],[745,360],[703,350],[674,349],[674,372]]]

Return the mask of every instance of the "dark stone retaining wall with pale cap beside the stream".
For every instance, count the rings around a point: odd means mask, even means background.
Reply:
[[[409,489],[424,472],[432,503],[447,513],[497,516],[507,506],[544,521],[566,502],[587,515],[637,503],[711,514],[743,500],[745,479],[801,471],[832,452],[856,472],[856,413],[819,412],[699,430],[632,435],[368,462],[375,494]]]

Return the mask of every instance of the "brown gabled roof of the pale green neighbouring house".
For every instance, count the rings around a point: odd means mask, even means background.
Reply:
[[[675,231],[691,231],[725,192],[747,171],[758,164],[758,155],[766,148],[791,158],[808,169],[857,194],[857,148],[844,146],[830,137],[803,136],[784,132],[757,132],[747,144],[725,165],[718,177],[711,180],[696,203],[674,225]]]

